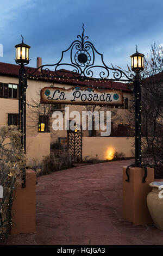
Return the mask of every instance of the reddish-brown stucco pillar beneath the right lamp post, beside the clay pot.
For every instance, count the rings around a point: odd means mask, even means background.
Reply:
[[[147,168],[146,182],[142,183],[145,175],[144,169],[140,167],[130,167],[128,170],[130,181],[126,182],[126,168],[123,167],[123,213],[124,220],[134,225],[152,224],[146,198],[151,191],[149,183],[154,181],[154,169]]]

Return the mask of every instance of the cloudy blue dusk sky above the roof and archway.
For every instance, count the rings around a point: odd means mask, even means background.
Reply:
[[[54,64],[72,41],[85,35],[103,53],[110,66],[130,65],[130,55],[138,51],[146,55],[151,45],[163,43],[162,0],[1,0],[0,62],[15,63],[15,45],[31,46],[29,66]]]

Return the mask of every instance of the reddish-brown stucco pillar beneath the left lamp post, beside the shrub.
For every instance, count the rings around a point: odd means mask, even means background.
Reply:
[[[26,187],[18,185],[12,205],[11,234],[36,231],[36,174],[26,170]]]

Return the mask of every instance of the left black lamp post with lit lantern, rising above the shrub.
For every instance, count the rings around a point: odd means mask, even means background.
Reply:
[[[18,72],[18,119],[19,129],[21,130],[21,144],[26,154],[26,89],[27,89],[27,76],[24,65],[29,63],[29,48],[30,46],[24,44],[23,36],[22,43],[15,45],[16,59],[15,62],[20,65]],[[22,170],[22,187],[26,187],[26,166]]]

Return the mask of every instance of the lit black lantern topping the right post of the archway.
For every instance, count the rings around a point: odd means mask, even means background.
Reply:
[[[130,57],[131,57],[131,69],[135,72],[142,71],[144,69],[144,64],[143,64],[144,54],[137,52],[137,45],[136,45],[136,52]]]

